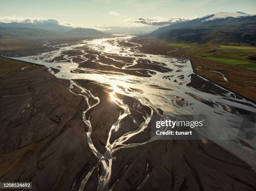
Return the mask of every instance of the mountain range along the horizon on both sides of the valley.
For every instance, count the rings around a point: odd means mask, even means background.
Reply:
[[[147,26],[148,27],[148,26]],[[116,27],[108,33],[143,33],[141,28]],[[148,28],[147,28],[148,30]],[[151,31],[153,27],[151,28]],[[46,20],[36,23],[0,22],[0,39],[28,38],[46,36],[106,35],[91,28],[73,28],[59,25],[57,20]],[[256,43],[256,15],[243,12],[215,13],[202,18],[173,23],[160,27],[145,35],[176,43]]]

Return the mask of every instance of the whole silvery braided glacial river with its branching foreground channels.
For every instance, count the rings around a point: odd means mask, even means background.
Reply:
[[[125,144],[129,138],[143,132],[156,108],[161,108],[165,118],[178,114],[205,115],[210,124],[214,123],[215,126],[204,131],[204,135],[208,133],[207,138],[255,168],[255,150],[233,141],[232,139],[237,137],[239,128],[232,127],[237,127],[238,121],[243,120],[239,114],[256,113],[256,104],[194,74],[189,60],[141,53],[138,50],[141,45],[129,42],[131,38],[132,36],[128,35],[65,44],[46,43],[44,46],[54,47],[55,50],[33,56],[15,57],[18,60],[45,65],[57,78],[70,80],[69,90],[72,93],[75,93],[72,89],[77,86],[96,100],[90,105],[86,95],[76,93],[84,96],[87,101],[88,109],[83,113],[84,123],[89,127],[89,131],[86,132],[87,140],[93,153],[99,158],[99,163],[84,177],[80,189],[84,188],[93,170],[101,165],[103,170],[98,187],[108,190],[112,164],[111,152],[115,149],[146,144],[159,138],[155,136],[147,141]],[[81,65],[81,63],[84,64]],[[54,69],[59,72],[54,73]],[[124,111],[111,127],[105,153],[100,153],[95,148],[91,139],[93,126],[90,123],[90,117],[86,117],[87,111],[100,103],[100,98],[93,95],[86,87],[76,84],[74,80],[77,79],[93,80],[98,84],[110,85],[110,89],[113,90],[109,93],[110,98]],[[199,84],[200,87],[193,84]],[[131,113],[129,107],[116,96],[117,93],[138,99],[143,105],[151,108],[151,114],[144,117],[138,129],[110,142],[111,133],[118,129],[119,121]],[[224,121],[225,128],[223,128]],[[199,134],[202,133],[200,129],[196,131]],[[220,136],[216,139],[211,136],[212,132]],[[243,141],[256,148],[255,140],[245,138]]]

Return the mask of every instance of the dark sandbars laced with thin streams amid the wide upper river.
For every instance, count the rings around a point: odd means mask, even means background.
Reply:
[[[96,72],[103,74],[112,74],[115,72],[118,75],[129,74],[135,76],[151,77],[155,72],[151,70],[156,70],[161,73],[166,73],[172,71],[172,69],[167,68],[164,63],[149,63],[146,59],[139,59],[136,65],[132,65],[135,58],[118,56],[116,54],[106,54],[102,55],[99,52],[87,50],[87,47],[80,49],[86,50],[87,55],[83,55],[88,60],[83,60],[82,58],[74,58],[73,61],[79,63],[79,68],[89,68],[94,69]],[[65,54],[65,53],[64,53]],[[67,51],[68,55],[76,55],[73,50]],[[79,54],[79,53],[78,53]],[[58,58],[56,58],[58,59]],[[54,59],[55,61],[58,61]],[[53,61],[54,61],[53,60]],[[102,63],[102,64],[99,64]],[[126,68],[123,68],[126,67]],[[73,70],[74,73],[88,73],[86,70]]]

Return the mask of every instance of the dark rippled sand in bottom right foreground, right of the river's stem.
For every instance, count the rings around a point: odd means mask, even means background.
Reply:
[[[211,141],[154,141],[113,157],[113,191],[256,189],[256,173]]]

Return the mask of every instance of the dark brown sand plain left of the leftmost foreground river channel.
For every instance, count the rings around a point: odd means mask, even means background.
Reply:
[[[82,96],[45,67],[0,78],[0,181],[70,190],[97,163],[87,144]]]

